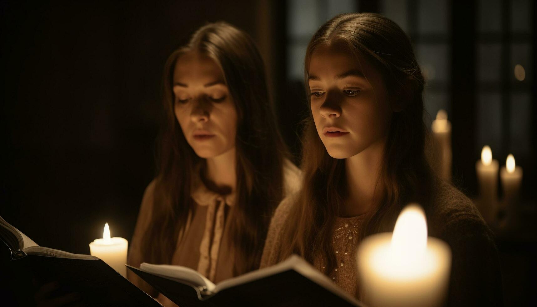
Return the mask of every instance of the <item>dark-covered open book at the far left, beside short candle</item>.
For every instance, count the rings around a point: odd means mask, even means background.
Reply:
[[[40,284],[57,282],[60,287],[56,296],[76,292],[82,303],[90,306],[161,306],[103,260],[39,246],[2,217],[0,240],[11,251],[12,260],[7,261],[12,263],[10,270],[15,276],[6,277],[14,285],[14,296],[24,301],[19,304],[34,303],[32,299]],[[3,248],[0,251],[7,252]],[[32,283],[34,279],[37,285]]]

